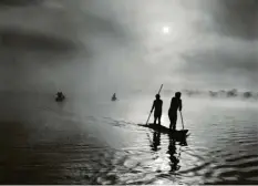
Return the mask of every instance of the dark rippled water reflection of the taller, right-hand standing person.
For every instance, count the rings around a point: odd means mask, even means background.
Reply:
[[[167,154],[169,154],[171,159],[171,172],[178,170],[180,167],[178,166],[179,159],[175,156],[176,154],[176,141],[172,138],[169,135],[169,145]]]

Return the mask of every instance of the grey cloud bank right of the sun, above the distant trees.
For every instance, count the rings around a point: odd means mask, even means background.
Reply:
[[[185,79],[193,83],[202,81],[206,86],[254,85],[258,81],[258,55],[248,50],[239,51],[213,49],[184,54],[182,58],[186,63],[180,70]]]

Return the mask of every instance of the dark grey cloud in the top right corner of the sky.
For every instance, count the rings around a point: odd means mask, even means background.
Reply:
[[[227,37],[258,39],[257,0],[217,0],[211,3],[215,29]],[[209,9],[210,10],[210,9]]]

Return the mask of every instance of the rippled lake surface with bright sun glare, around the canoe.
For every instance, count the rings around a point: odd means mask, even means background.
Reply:
[[[118,99],[1,94],[0,184],[258,184],[258,101],[183,96],[180,145],[137,125],[154,96]]]

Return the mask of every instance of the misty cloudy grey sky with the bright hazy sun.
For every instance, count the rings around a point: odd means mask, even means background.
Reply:
[[[2,90],[258,90],[256,0],[0,0]]]

